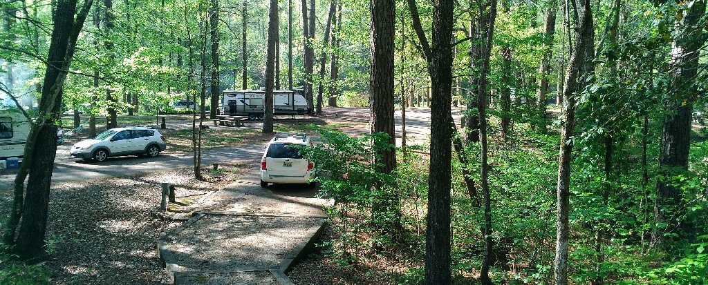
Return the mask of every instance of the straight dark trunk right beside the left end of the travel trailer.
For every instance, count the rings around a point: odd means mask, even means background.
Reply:
[[[209,118],[217,118],[217,110],[219,110],[219,98],[221,94],[219,93],[219,41],[221,37],[219,35],[219,12],[221,11],[221,4],[219,0],[212,0],[212,9],[210,13],[209,22],[211,24],[210,37],[212,38],[212,80],[211,80],[211,101],[210,101],[210,112]],[[204,117],[205,107],[204,102],[202,102],[202,117]]]

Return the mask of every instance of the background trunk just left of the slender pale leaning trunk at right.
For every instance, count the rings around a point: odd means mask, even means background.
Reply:
[[[542,134],[548,131],[548,122],[546,122],[546,94],[548,93],[548,78],[551,76],[551,58],[553,55],[553,36],[556,31],[556,13],[558,5],[555,1],[551,1],[546,8],[544,16],[544,33],[543,33],[543,55],[541,57],[541,66],[538,69],[538,96],[536,107],[538,112],[537,129]]]

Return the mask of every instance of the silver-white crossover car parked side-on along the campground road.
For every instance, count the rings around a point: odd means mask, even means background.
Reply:
[[[69,151],[72,157],[102,162],[111,156],[157,156],[166,149],[164,136],[148,127],[108,129],[93,139],[79,141]]]

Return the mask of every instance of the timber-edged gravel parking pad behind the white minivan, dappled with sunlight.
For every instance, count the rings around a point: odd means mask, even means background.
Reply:
[[[333,202],[302,185],[260,186],[258,165],[205,199],[157,250],[175,284],[292,284]]]

